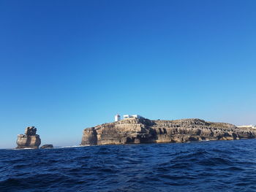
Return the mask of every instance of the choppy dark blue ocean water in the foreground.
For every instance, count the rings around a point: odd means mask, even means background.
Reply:
[[[0,191],[256,191],[256,139],[0,150]]]

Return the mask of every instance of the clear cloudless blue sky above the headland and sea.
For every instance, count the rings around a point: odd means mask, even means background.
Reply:
[[[116,113],[256,124],[256,1],[0,1],[0,148]]]

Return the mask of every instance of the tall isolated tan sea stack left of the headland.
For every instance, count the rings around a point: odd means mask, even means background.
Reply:
[[[27,127],[25,129],[25,134],[18,134],[17,139],[17,149],[31,148],[38,149],[41,144],[41,139],[37,134],[37,128],[34,126]]]

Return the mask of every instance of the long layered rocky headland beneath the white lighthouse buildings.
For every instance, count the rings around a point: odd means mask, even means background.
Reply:
[[[237,128],[229,123],[200,119],[148,120],[127,118],[114,123],[85,128],[81,145],[191,142],[201,140],[252,139],[253,128]]]

